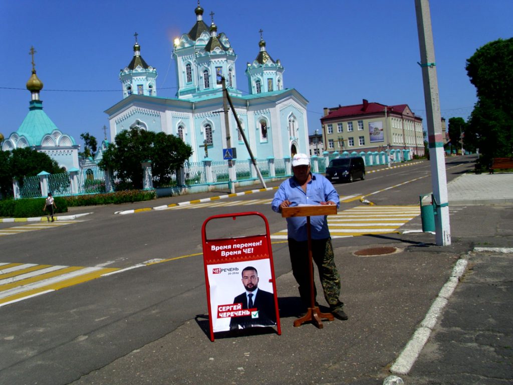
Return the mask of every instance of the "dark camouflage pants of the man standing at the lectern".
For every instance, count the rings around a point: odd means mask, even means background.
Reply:
[[[299,294],[303,303],[310,307],[310,277],[308,274],[308,243],[288,239],[292,274],[299,284]],[[341,309],[340,275],[335,266],[331,238],[312,239],[312,259],[319,269],[319,278],[324,291],[324,298],[331,310]],[[313,285],[313,296],[317,297],[317,288]]]

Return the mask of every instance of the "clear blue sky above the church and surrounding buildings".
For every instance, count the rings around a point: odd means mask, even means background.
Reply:
[[[120,69],[133,56],[139,34],[143,59],[158,71],[157,95],[176,92],[172,41],[194,25],[196,0],[0,0],[3,71],[0,132],[15,131],[28,112],[29,50],[36,50],[46,113],[82,143],[103,139],[107,108],[122,99]],[[248,91],[247,62],[267,52],[285,68],[284,86],[309,101],[308,128],[320,128],[323,107],[408,104],[424,118],[425,103],[414,0],[201,0],[218,33],[238,55],[238,87]],[[484,44],[513,36],[511,0],[431,0],[442,117],[468,118],[476,90],[466,60]],[[61,91],[57,91],[61,90]],[[426,128],[426,127],[425,127]],[[110,139],[110,138],[109,138]]]

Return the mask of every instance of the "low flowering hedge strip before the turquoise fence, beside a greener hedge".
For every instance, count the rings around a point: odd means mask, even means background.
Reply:
[[[106,194],[77,195],[65,197],[68,206],[97,206],[101,204],[119,204],[149,201],[155,199],[155,190],[125,190]]]

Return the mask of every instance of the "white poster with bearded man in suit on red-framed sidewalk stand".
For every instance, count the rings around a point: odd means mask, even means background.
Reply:
[[[277,324],[270,259],[209,263],[206,268],[214,333]]]

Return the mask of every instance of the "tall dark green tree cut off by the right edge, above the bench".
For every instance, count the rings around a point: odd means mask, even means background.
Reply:
[[[496,40],[467,59],[476,103],[465,132],[464,145],[479,148],[483,161],[511,156],[513,151],[513,38]]]

